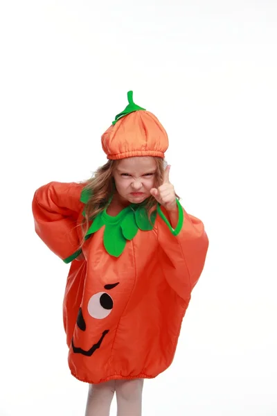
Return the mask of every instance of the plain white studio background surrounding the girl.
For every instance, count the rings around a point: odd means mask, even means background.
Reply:
[[[276,416],[276,1],[6,0],[0,37],[0,415],[84,414],[62,327],[69,266],[36,236],[31,200],[105,163],[100,135],[133,89],[210,239],[143,415]]]

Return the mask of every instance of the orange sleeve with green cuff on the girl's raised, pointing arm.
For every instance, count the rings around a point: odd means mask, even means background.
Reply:
[[[202,221],[187,214],[179,201],[177,204],[179,222],[175,229],[166,212],[158,209],[159,256],[168,284],[183,299],[188,299],[204,268],[208,236]]]

